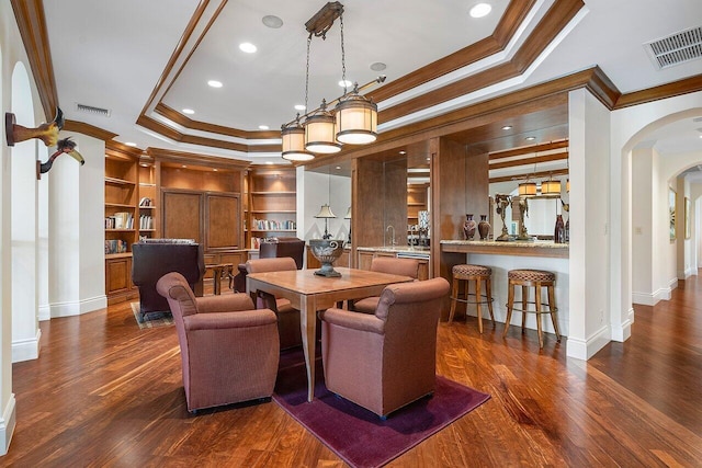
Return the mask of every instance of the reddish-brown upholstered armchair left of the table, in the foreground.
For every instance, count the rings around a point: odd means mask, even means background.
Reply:
[[[273,395],[280,349],[275,313],[245,294],[195,297],[180,273],[156,284],[173,312],[188,411]]]

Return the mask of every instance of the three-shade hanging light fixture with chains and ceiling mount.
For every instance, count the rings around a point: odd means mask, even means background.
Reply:
[[[339,19],[341,34],[341,80],[344,83],[344,93],[330,103],[321,101],[321,105],[295,121],[284,124],[281,129],[282,157],[291,161],[308,161],[315,158],[314,153],[335,153],[341,150],[342,144],[365,145],[377,138],[377,105],[361,94],[361,91],[385,81],[385,76],[359,87],[353,84],[353,90],[348,92],[346,88],[346,50],[343,42],[343,5],[338,2],[328,2],[312,19],[305,23],[309,33],[307,37],[307,64],[305,70],[305,109],[309,95],[309,50],[312,37],[326,39],[327,32]],[[336,105],[336,106],[335,106]],[[327,107],[333,107],[328,111]]]

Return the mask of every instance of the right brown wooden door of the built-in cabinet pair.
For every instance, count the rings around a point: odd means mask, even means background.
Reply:
[[[205,250],[241,246],[241,199],[238,194],[206,193],[204,218]]]

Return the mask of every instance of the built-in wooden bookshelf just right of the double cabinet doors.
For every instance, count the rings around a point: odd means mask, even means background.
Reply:
[[[247,181],[247,247],[258,249],[267,237],[290,237],[297,232],[295,168],[264,168],[249,171]]]

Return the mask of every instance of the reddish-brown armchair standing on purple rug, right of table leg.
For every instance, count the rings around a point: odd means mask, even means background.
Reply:
[[[434,391],[442,277],[388,285],[375,313],[320,312],[327,388],[386,418]]]

